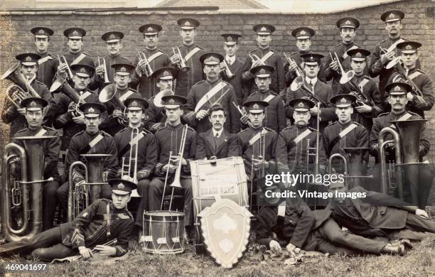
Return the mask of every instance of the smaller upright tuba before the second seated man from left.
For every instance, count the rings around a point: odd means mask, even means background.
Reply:
[[[100,185],[102,182],[103,161],[109,154],[82,154],[87,165],[81,161],[75,161],[70,165],[68,172],[68,222],[72,222],[82,210],[98,198],[100,198]],[[73,184],[73,170],[82,167],[85,170],[85,183]]]

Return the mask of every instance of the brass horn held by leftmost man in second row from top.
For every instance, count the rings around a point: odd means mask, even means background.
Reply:
[[[6,97],[17,109],[21,108],[20,104],[24,99],[28,97],[40,97],[38,92],[30,85],[33,80],[26,80],[23,77],[18,68],[19,65],[20,63],[16,63],[1,76],[1,80],[10,80],[15,84],[6,88]]]

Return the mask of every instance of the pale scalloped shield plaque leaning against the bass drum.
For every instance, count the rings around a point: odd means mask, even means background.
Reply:
[[[217,264],[232,268],[249,243],[252,214],[229,199],[220,199],[200,214],[204,244]]]

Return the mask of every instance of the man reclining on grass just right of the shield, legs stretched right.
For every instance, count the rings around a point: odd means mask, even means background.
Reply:
[[[281,189],[272,185],[266,190]],[[330,217],[329,210],[311,211],[297,193],[284,202],[280,198],[264,200],[267,205],[257,215],[256,239],[272,251],[285,246],[296,254],[301,249],[329,254],[403,254],[405,246],[411,246],[407,240],[390,243],[387,239],[367,239],[345,232]]]

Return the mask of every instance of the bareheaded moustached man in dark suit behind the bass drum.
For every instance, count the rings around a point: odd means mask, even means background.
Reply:
[[[212,129],[198,135],[195,159],[215,160],[240,156],[237,136],[230,134],[223,128],[227,118],[221,104],[214,104],[210,107],[208,120],[212,124]]]

